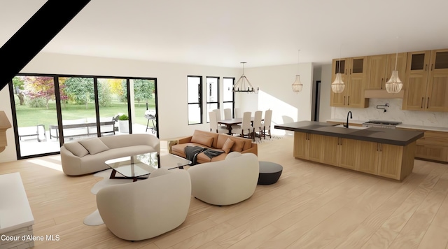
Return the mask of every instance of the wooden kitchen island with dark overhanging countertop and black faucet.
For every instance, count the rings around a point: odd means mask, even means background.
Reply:
[[[412,173],[416,140],[423,137],[421,131],[351,129],[313,121],[274,128],[294,131],[296,158],[395,180],[403,180]]]

